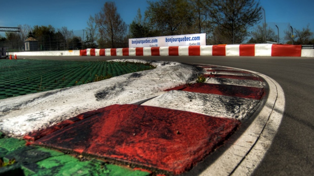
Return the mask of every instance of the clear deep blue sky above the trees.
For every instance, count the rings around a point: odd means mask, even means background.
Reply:
[[[158,0],[151,0],[158,1]],[[69,30],[82,30],[87,27],[90,15],[94,16],[101,11],[103,0],[11,0],[0,3],[0,26],[16,27],[21,24],[52,25],[61,28],[66,26]],[[144,14],[148,4],[146,0],[115,0],[117,11],[122,19],[130,24],[137,14],[138,8]],[[314,31],[314,1],[313,0],[260,0],[266,12],[266,23],[277,34],[278,25],[280,37],[288,25],[294,29],[302,29],[309,24]],[[263,20],[261,21],[263,23]],[[261,24],[260,23],[260,24]],[[2,36],[5,34],[0,33]]]

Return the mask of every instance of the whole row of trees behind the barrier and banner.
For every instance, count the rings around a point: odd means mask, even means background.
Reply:
[[[160,0],[148,1],[131,24],[121,18],[114,2],[106,2],[101,11],[87,21],[85,38],[74,37],[67,27],[20,25],[21,36],[7,32],[1,41],[21,45],[27,37],[38,40],[39,49],[117,48],[128,47],[129,38],[206,33],[207,44],[280,42],[273,29],[262,20],[262,7],[255,0]],[[256,26],[253,28],[253,26]],[[290,27],[290,26],[289,26]],[[292,30],[287,27],[282,41],[289,44],[314,44],[309,25]],[[266,31],[265,31],[266,28]],[[72,34],[72,35],[71,35]],[[249,39],[249,40],[248,40]],[[48,42],[49,41],[49,42]],[[282,43],[282,42],[281,42]]]

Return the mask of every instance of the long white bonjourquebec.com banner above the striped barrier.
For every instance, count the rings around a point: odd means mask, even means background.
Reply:
[[[195,45],[206,45],[205,33],[129,39],[130,48],[157,47],[157,46],[195,46]]]

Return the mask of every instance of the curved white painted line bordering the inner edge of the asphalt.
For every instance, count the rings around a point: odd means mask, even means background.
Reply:
[[[264,107],[247,129],[240,128],[216,151],[217,159],[200,175],[251,175],[270,147],[283,118],[284,91],[273,79],[252,73],[263,77],[269,85],[270,92]]]

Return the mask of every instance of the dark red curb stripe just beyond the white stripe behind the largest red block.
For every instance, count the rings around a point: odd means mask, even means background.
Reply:
[[[198,93],[211,93],[217,95],[234,96],[241,98],[252,98],[261,99],[263,96],[263,88],[257,87],[245,87],[245,86],[234,86],[234,85],[224,85],[224,84],[206,84],[206,83],[195,83],[192,85],[182,85],[170,90],[182,90],[188,92],[198,92]]]

